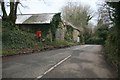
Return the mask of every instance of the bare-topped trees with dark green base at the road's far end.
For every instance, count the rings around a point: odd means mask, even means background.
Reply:
[[[94,36],[91,40],[93,40],[93,43],[95,44],[105,45],[105,42],[109,35],[110,27],[114,25],[113,21],[111,20],[111,18],[114,18],[112,16],[114,13],[112,10],[114,9],[110,7],[106,2],[99,3],[98,6],[98,23],[94,28]]]

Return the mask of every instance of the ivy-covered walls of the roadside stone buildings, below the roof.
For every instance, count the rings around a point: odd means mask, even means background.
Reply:
[[[45,41],[69,41],[74,42],[76,35],[74,35],[74,28],[70,25],[64,25],[61,19],[61,13],[53,16],[50,24],[19,24],[20,29],[35,33],[41,31],[41,38]]]

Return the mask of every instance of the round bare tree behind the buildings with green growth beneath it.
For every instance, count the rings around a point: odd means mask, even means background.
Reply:
[[[66,22],[71,23],[80,30],[81,43],[89,38],[91,32],[88,28],[88,22],[92,19],[89,6],[69,2],[62,9],[62,16]]]

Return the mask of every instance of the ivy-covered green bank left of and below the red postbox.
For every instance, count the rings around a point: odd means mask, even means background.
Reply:
[[[42,43],[36,39],[36,34],[20,30],[17,26],[4,23],[2,26],[3,55],[17,54],[17,50],[26,48],[41,48]]]

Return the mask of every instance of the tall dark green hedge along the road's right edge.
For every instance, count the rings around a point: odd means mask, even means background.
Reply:
[[[109,52],[109,58],[113,60],[115,64],[120,66],[120,2],[110,2],[107,3],[110,7],[114,8],[114,13],[112,13],[113,23],[115,24],[111,29],[106,42],[106,51]],[[109,49],[108,49],[109,48]],[[114,56],[114,57],[112,57]],[[112,58],[111,58],[112,57]]]

